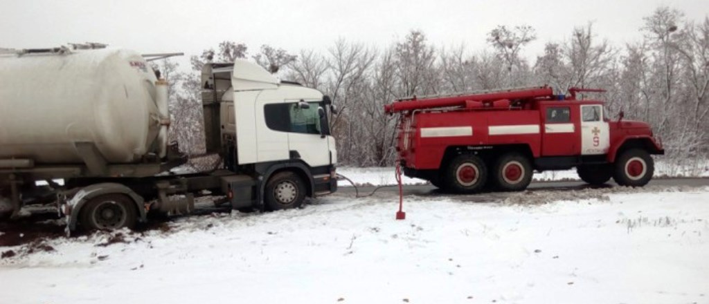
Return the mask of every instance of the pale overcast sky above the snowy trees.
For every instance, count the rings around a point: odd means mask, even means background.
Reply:
[[[702,21],[709,0],[1,0],[0,47],[54,47],[103,42],[138,52],[199,54],[223,40],[244,42],[249,54],[269,44],[289,52],[325,51],[338,37],[384,47],[423,30],[434,45],[486,47],[496,25],[531,25],[537,41],[525,56],[593,21],[614,45],[640,40],[642,17],[661,5]]]

